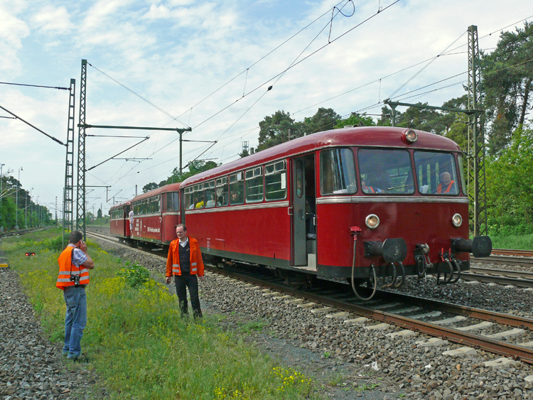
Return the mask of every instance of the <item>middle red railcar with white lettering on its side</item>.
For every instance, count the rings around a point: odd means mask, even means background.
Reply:
[[[133,229],[131,239],[140,244],[168,245],[176,239],[175,226],[181,222],[180,183],[151,190],[131,200]]]

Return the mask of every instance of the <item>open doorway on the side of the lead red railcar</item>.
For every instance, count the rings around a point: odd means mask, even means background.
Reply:
[[[316,270],[315,156],[294,158],[291,168],[292,265]]]

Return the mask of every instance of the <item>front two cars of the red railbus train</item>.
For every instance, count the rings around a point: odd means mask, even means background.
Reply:
[[[376,285],[389,276],[387,286],[399,286],[406,274],[429,272],[451,283],[470,268],[470,252],[492,250],[489,237],[468,239],[461,149],[412,129],[304,136],[131,202],[131,239],[168,244],[186,222],[205,256],[288,279],[305,272]]]

